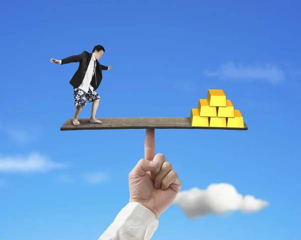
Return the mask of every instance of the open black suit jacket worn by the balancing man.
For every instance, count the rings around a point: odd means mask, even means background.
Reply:
[[[70,56],[70,57],[62,59],[62,65],[67,64],[67,63],[78,63],[79,62],[79,67],[69,82],[74,88],[78,88],[82,84],[91,58],[92,58],[92,53],[88,53],[87,51],[84,51],[80,55],[74,55],[74,56]],[[99,87],[100,82],[102,80],[102,71],[101,70],[108,70],[108,67],[100,65],[99,62],[96,60],[97,85],[95,83],[95,75],[93,75],[92,82],[91,82],[91,85],[95,90]]]

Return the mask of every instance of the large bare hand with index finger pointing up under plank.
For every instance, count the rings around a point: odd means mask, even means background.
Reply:
[[[130,202],[139,202],[159,216],[170,207],[181,189],[181,182],[165,156],[155,156],[155,129],[146,129],[145,159],[138,161],[128,176]]]

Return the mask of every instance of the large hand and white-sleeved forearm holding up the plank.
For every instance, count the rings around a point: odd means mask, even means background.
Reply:
[[[129,203],[98,240],[149,240],[180,191],[172,164],[163,154],[155,156],[155,129],[146,129],[144,155],[128,176]]]

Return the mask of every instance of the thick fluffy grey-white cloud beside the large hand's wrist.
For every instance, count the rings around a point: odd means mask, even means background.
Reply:
[[[211,184],[206,190],[192,188],[180,191],[174,203],[182,208],[189,218],[197,218],[213,213],[224,215],[230,211],[256,212],[268,206],[268,202],[253,196],[239,194],[228,183]]]

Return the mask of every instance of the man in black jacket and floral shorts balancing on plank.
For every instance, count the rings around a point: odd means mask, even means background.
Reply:
[[[101,45],[97,45],[93,48],[92,53],[84,51],[80,55],[74,55],[62,60],[50,59],[51,63],[62,65],[79,62],[79,67],[69,82],[73,86],[74,105],[76,106],[72,121],[74,126],[80,125],[78,115],[86,105],[87,99],[89,102],[93,102],[89,122],[102,124],[102,121],[95,117],[100,100],[96,89],[102,80],[102,70],[109,70],[113,67],[112,65],[106,67],[99,64],[98,60],[102,57],[104,52],[104,48]]]

